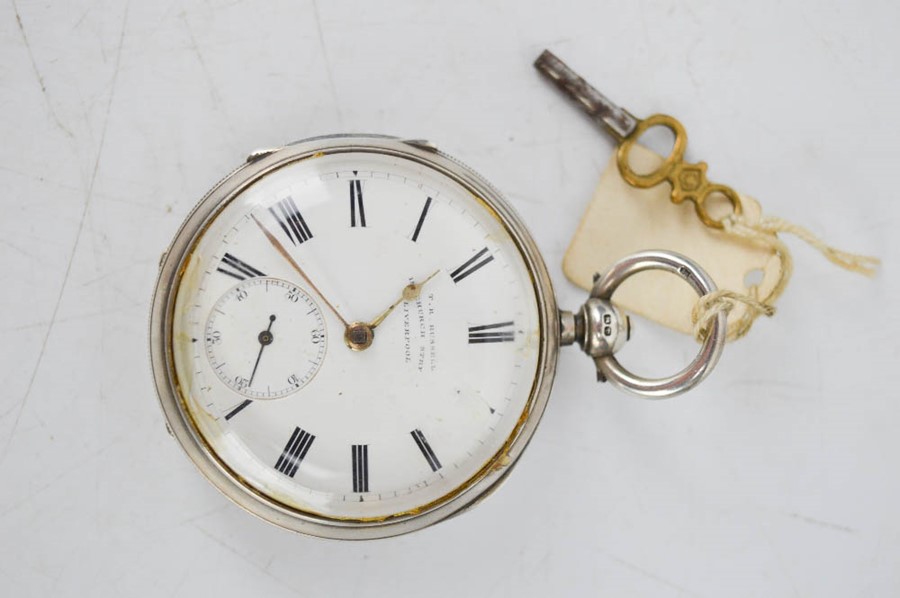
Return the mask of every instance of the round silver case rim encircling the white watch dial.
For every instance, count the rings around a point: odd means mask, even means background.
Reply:
[[[473,192],[501,218],[518,244],[534,281],[543,334],[538,370],[531,396],[531,411],[509,444],[505,465],[495,463],[480,479],[456,496],[426,511],[384,521],[359,522],[328,519],[290,509],[242,484],[223,468],[201,440],[187,414],[175,384],[171,350],[171,315],[174,310],[179,270],[199,234],[224,206],[257,179],[291,162],[317,152],[370,151],[413,159],[431,167]],[[550,395],[559,355],[559,313],[549,273],[537,245],[515,210],[499,191],[461,162],[420,149],[402,140],[381,135],[335,135],[298,141],[251,163],[246,163],[216,184],[194,207],[178,229],[160,263],[150,315],[150,359],[157,396],[171,435],[178,440],[200,473],[239,507],[279,527],[323,538],[364,540],[409,533],[438,523],[474,506],[495,490],[518,461],[531,440]],[[502,451],[501,451],[502,453]],[[493,459],[501,459],[498,453]]]

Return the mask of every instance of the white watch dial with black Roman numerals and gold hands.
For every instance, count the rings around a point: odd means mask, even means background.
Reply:
[[[504,463],[539,367],[535,282],[456,179],[374,150],[291,162],[214,214],[182,272],[182,403],[253,490],[381,520]]]

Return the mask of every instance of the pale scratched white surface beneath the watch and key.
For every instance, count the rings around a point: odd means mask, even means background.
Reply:
[[[27,2],[0,7],[4,596],[900,593],[897,3]],[[255,147],[426,137],[562,253],[612,145],[533,72],[549,47],[772,213],[781,310],[699,390],[648,403],[566,351],[507,484],[411,536],[325,542],[219,496],[165,433],[146,322],[160,252]],[[640,326],[630,363],[690,342]]]

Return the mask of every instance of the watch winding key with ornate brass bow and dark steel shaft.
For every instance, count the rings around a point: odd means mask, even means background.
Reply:
[[[580,77],[562,60],[549,50],[535,61],[534,66],[553,81],[566,95],[578,102],[581,108],[595,122],[603,125],[619,142],[616,162],[622,178],[632,187],[648,189],[663,181],[672,186],[672,202],[680,204],[687,200],[694,202],[697,216],[706,226],[724,228],[722,220],[713,218],[706,209],[710,196],[721,195],[731,203],[734,215],[743,212],[741,198],[726,185],[711,183],[706,178],[706,162],[688,164],[684,161],[687,148],[687,132],[677,119],[666,114],[654,114],[643,120],[635,118],[624,108],[611,102],[606,96]],[[665,127],[675,136],[672,151],[662,165],[647,174],[640,174],[631,168],[629,156],[638,139],[652,127]]]

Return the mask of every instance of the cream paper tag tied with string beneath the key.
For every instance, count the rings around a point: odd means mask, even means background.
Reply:
[[[639,145],[630,154],[637,172],[650,172],[662,162],[661,156]],[[750,285],[756,285],[758,296],[768,296],[779,278],[775,254],[705,226],[697,218],[693,203],[676,205],[670,192],[666,183],[651,189],[630,186],[620,176],[613,155],[563,259],[563,271],[569,280],[590,289],[594,273],[604,272],[619,259],[637,251],[667,249],[700,264],[720,289],[746,294]],[[762,212],[759,203],[746,195],[740,198],[747,222],[758,222]],[[623,283],[613,299],[625,311],[692,333],[691,310],[698,297],[677,276],[641,273]],[[740,317],[745,309],[742,304],[736,305],[729,321]]]

